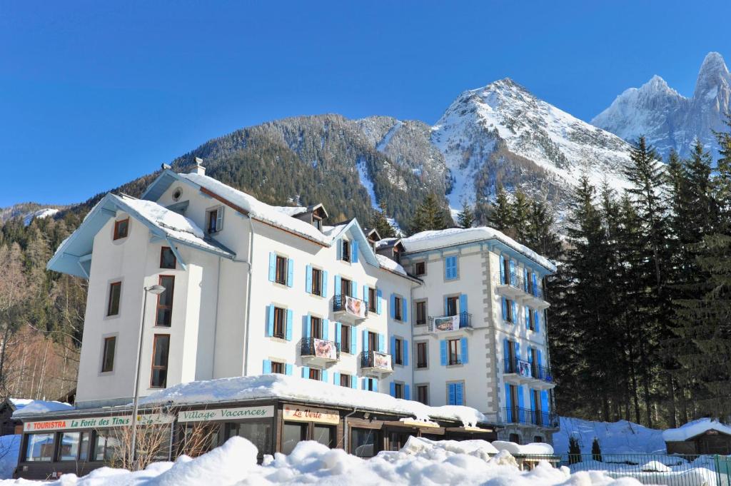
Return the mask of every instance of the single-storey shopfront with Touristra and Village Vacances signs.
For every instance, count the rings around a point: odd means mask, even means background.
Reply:
[[[50,479],[87,474],[102,466],[129,464],[131,407],[50,412],[23,417],[16,477]],[[260,460],[289,454],[300,441],[317,441],[353,455],[372,457],[398,450],[410,436],[435,440],[482,438],[493,441],[489,424],[464,427],[454,419],[416,420],[407,414],[330,406],[299,400],[240,400],[142,409],[137,416],[138,456],[168,460],[196,456],[232,436],[249,439]]]

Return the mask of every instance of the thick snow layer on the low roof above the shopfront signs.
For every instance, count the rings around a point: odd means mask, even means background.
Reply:
[[[322,406],[348,406],[360,409],[409,414],[417,420],[458,420],[463,425],[474,427],[486,422],[480,411],[467,406],[426,406],[412,400],[393,398],[384,393],[354,390],[310,379],[280,374],[238,376],[205,381],[192,381],[160,390],[149,395],[140,403],[156,404],[172,401],[175,404],[229,402],[255,398],[290,398],[322,403]]]

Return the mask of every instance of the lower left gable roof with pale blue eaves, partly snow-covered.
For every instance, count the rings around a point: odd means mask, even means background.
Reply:
[[[207,238],[202,229],[171,210],[163,208],[156,202],[137,200],[128,196],[107,194],[89,211],[80,226],[64,240],[56,254],[48,262],[48,270],[67,273],[77,277],[88,278],[91,270],[91,251],[94,248],[94,236],[102,227],[114,218],[118,210],[124,211],[132,218],[150,229],[153,238],[170,243],[170,248],[177,253],[175,244],[190,246],[202,251],[217,254],[221,257],[233,258],[235,254],[220,243]],[[179,254],[178,261],[185,265]]]

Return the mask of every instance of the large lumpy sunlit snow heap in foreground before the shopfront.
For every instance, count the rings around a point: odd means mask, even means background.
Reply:
[[[477,442],[477,441],[470,441]],[[257,449],[245,438],[232,437],[206,455],[175,463],[156,463],[145,471],[130,473],[102,468],[77,478],[66,474],[53,486],[635,486],[632,479],[614,481],[602,472],[579,472],[539,463],[532,471],[520,471],[510,454],[484,455],[489,444],[452,448],[452,441],[417,439],[398,452],[382,452],[368,460],[328,449],[314,441],[300,442],[285,456],[276,454],[265,464],[256,463]],[[458,443],[459,444],[459,443]],[[0,482],[1,486],[40,485],[41,482]]]

